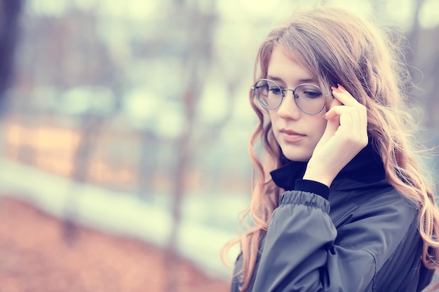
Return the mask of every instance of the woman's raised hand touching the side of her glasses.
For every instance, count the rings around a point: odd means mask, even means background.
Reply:
[[[333,99],[324,118],[327,126],[313,151],[304,179],[330,186],[335,176],[367,145],[367,110],[342,86],[332,87]]]

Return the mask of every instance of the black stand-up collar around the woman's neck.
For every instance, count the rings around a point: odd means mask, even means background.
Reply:
[[[293,190],[296,179],[302,179],[308,162],[281,159],[282,167],[270,172],[276,186],[284,190]],[[384,165],[377,151],[374,150],[372,139],[335,177],[333,184],[339,179],[351,179],[362,183],[374,183],[384,179]]]

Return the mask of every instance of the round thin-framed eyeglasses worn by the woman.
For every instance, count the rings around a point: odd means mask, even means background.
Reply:
[[[316,115],[325,108],[325,96],[314,84],[302,83],[295,89],[281,88],[281,85],[269,79],[259,79],[252,87],[259,104],[265,109],[278,109],[288,91],[295,97],[297,107],[309,115]]]

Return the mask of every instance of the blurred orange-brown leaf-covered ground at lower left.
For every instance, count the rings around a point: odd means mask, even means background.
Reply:
[[[65,225],[23,202],[0,199],[0,292],[166,291],[165,254],[135,239]],[[74,237],[66,237],[74,234]],[[175,292],[229,291],[184,260]]]

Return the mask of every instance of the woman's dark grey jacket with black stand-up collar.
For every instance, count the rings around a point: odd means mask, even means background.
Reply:
[[[302,180],[304,162],[271,173],[284,188],[261,237],[248,291],[421,291],[433,271],[421,261],[417,208],[384,179],[368,145],[332,186]],[[231,291],[238,292],[241,255]]]

